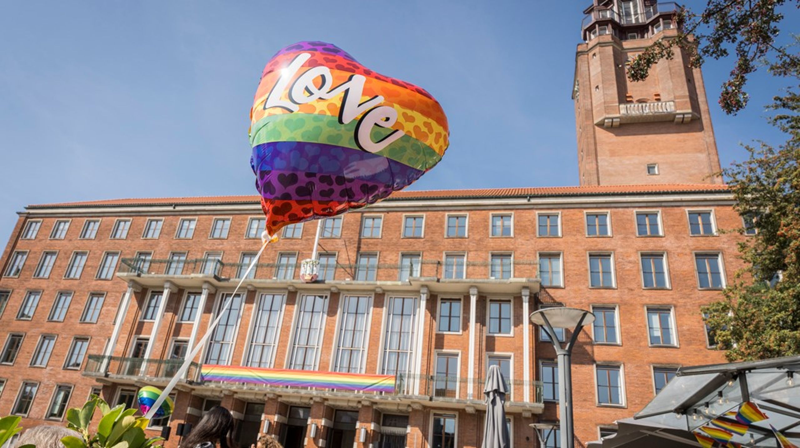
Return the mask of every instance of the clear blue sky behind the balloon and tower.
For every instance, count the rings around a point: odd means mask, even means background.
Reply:
[[[410,188],[578,184],[570,91],[589,3],[4,2],[0,240],[26,204],[254,194],[258,78],[302,40],[442,103],[450,149]],[[786,23],[798,23],[791,10]],[[730,65],[704,67],[722,165],[745,157],[741,141],[778,143],[763,105],[786,85],[759,74],[750,107],[726,116],[716,98]]]

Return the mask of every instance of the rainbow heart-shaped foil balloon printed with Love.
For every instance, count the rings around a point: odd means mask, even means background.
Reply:
[[[250,121],[250,165],[270,235],[405,188],[449,145],[430,93],[326,42],[298,42],[270,59]]]

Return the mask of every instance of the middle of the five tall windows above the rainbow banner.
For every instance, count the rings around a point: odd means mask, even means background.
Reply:
[[[294,341],[289,358],[289,368],[301,371],[317,370],[317,360],[322,343],[327,295],[304,294],[300,297],[298,316],[294,323]]]

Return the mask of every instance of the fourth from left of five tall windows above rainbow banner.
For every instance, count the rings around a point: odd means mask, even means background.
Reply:
[[[366,322],[370,315],[370,297],[345,295],[341,309],[334,371],[364,373],[366,343],[369,338]]]

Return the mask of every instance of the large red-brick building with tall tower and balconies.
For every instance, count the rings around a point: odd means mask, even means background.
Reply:
[[[234,297],[260,248],[255,196],[27,207],[0,264],[0,414],[31,426],[92,392],[133,402],[138,387],[166,385],[230,298],[174,414],[151,422],[153,434],[173,429],[166,446],[214,404],[234,412],[242,446],[265,429],[288,447],[479,446],[493,364],[510,383],[514,446],[536,446],[530,423],[558,420],[558,375],[528,315],[566,305],[597,318],[573,356],[576,437],[613,431],[677,367],[723,361],[700,307],[740,267],[746,237],[718,232],[743,223],[712,176],[699,70],[676,57],[642,85],[624,79],[626,57],[674,32],[670,7],[586,11],[581,186],[398,192],[290,226]],[[306,283],[299,264],[318,226],[319,278]],[[393,375],[395,390],[203,381],[204,364]]]

